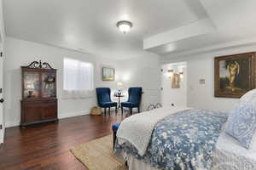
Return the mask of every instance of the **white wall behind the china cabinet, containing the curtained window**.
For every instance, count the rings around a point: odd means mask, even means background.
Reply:
[[[88,114],[91,106],[96,105],[96,96],[90,99],[61,99],[63,87],[63,58],[80,59],[95,65],[95,87],[115,88],[116,82],[102,82],[102,66],[116,68],[116,81],[119,79],[117,61],[102,59],[94,54],[84,54],[64,48],[56,48],[35,42],[7,37],[7,58],[4,62],[4,86],[6,87],[6,125],[16,126],[20,123],[21,99],[21,65],[28,65],[34,60],[42,59],[58,69],[57,97],[59,99],[59,118]]]

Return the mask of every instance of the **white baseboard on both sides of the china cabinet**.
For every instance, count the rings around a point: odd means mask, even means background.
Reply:
[[[83,116],[83,115],[89,115],[90,111],[79,111],[79,112],[73,112],[73,113],[61,113],[58,115],[59,119],[64,119],[67,117],[73,117],[73,116]],[[15,122],[5,122],[5,127],[18,127],[20,126],[20,121]]]

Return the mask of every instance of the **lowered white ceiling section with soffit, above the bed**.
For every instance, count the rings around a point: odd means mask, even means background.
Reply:
[[[183,27],[178,27],[175,29],[176,34],[172,34],[173,30],[171,30],[144,39],[144,49],[156,54],[168,54],[175,57],[177,54],[188,54],[189,51],[195,51],[197,48],[217,47],[216,44],[245,39],[252,43],[249,38],[256,36],[255,0],[200,0],[200,2],[207,11],[207,20],[212,21],[212,30],[209,29],[211,25],[209,23],[209,26],[197,24],[197,31],[201,31],[199,34],[195,34],[195,30],[189,30],[190,25],[183,26],[186,28],[185,33]],[[173,40],[174,38],[176,39]]]

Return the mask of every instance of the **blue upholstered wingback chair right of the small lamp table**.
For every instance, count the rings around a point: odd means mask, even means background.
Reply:
[[[140,112],[143,88],[129,88],[128,94],[129,94],[128,101],[121,103],[122,114],[124,112],[124,107],[129,108],[131,115],[132,115],[133,108],[137,107],[137,111]]]

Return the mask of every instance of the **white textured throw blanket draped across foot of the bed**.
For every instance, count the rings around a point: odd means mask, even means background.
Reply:
[[[136,147],[138,154],[143,156],[148,148],[154,126],[177,111],[188,110],[189,108],[166,107],[153,111],[146,111],[141,114],[130,116],[121,122],[117,132],[119,144],[128,141]]]

